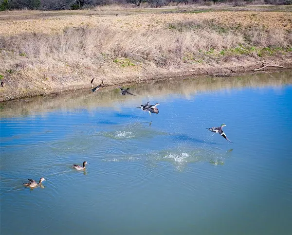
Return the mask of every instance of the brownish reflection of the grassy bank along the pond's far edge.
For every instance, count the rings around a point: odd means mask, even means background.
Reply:
[[[137,96],[121,96],[115,87],[106,87],[96,92],[77,90],[59,95],[47,95],[0,103],[1,118],[45,114],[54,110],[94,110],[95,108],[121,111],[123,107],[136,107],[143,102],[152,103],[166,96],[190,98],[197,92],[256,88],[271,86],[281,88],[292,84],[292,71],[261,72],[234,77],[177,77],[147,83],[130,84],[127,87]],[[125,114],[126,115],[126,114]],[[128,116],[127,116],[128,117]]]

